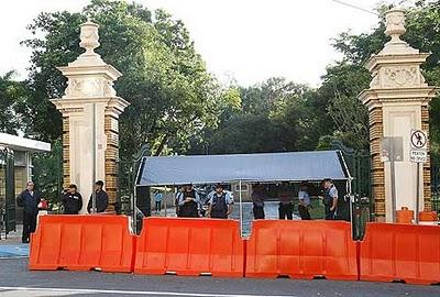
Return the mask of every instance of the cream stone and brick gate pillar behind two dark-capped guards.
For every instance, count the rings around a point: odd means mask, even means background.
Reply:
[[[113,81],[121,74],[94,52],[99,46],[98,25],[81,24],[79,45],[86,50],[75,62],[58,69],[67,77],[62,99],[51,100],[63,114],[64,186],[76,184],[82,195],[81,212],[96,179],[105,182],[109,202],[117,198],[119,116],[129,102],[119,98]],[[95,132],[94,132],[95,127]]]

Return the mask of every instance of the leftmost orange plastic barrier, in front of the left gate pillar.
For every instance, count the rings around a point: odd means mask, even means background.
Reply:
[[[30,270],[133,272],[135,237],[124,216],[43,216],[31,238]]]

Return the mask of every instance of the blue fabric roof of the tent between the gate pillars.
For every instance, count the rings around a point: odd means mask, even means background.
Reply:
[[[136,185],[348,179],[338,151],[144,157]]]

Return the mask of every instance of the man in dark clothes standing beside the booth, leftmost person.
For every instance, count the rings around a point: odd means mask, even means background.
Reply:
[[[40,193],[34,190],[34,183],[28,182],[26,189],[16,197],[16,205],[23,207],[23,233],[21,241],[29,243],[30,233],[35,232],[38,215]]]

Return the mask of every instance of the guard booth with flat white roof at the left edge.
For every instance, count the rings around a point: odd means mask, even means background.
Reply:
[[[22,220],[15,197],[32,179],[32,154],[50,151],[50,143],[0,133],[0,238]]]

